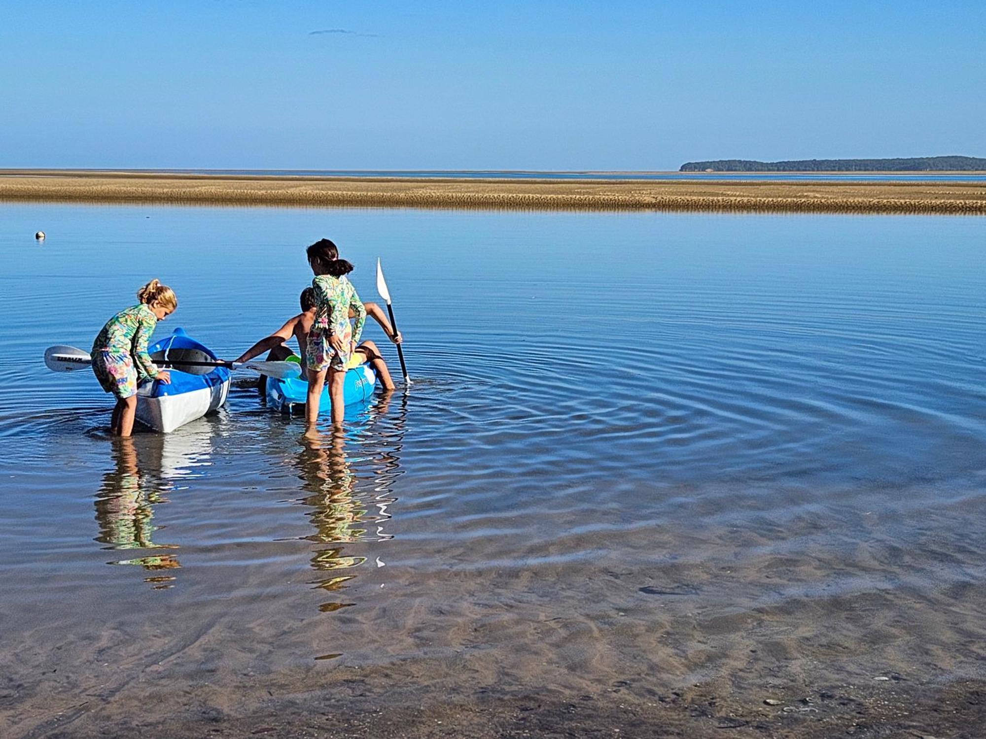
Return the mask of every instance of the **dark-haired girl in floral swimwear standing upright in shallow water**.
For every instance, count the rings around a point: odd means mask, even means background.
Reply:
[[[308,398],[305,420],[310,432],[318,421],[321,388],[328,375],[328,397],[332,401],[332,425],[341,426],[345,401],[342,397],[346,364],[363,333],[367,311],[346,279],[353,265],[339,259],[339,250],[327,238],[308,247],[309,264],[316,277],[312,288],[316,297],[315,323],[308,336],[305,365],[308,370]],[[355,328],[349,325],[349,309],[356,316]]]

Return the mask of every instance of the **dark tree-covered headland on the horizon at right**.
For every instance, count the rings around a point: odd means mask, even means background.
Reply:
[[[953,171],[986,170],[979,157],[912,157],[911,159],[803,159],[793,162],[754,162],[719,159],[686,162],[679,171]]]

